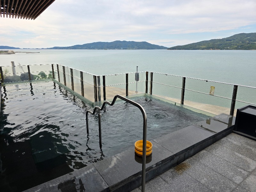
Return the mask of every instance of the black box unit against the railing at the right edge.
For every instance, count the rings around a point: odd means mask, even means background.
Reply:
[[[256,140],[256,106],[247,105],[237,109],[234,132]]]

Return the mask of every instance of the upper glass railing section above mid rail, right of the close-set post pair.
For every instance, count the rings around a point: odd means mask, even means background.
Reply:
[[[148,81],[150,81],[150,73],[148,73]],[[158,84],[166,84],[174,87],[182,87],[182,77],[167,74],[153,73],[153,82]]]

